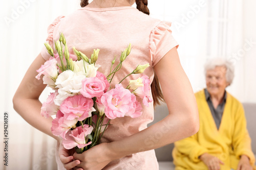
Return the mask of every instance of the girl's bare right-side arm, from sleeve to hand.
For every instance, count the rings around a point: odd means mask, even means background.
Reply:
[[[177,48],[172,48],[154,69],[161,84],[169,115],[153,126],[129,137],[110,143],[101,143],[82,154],[75,153],[75,159],[81,161],[78,167],[101,169],[114,159],[160,148],[198,132],[197,103],[193,89],[180,64]]]

